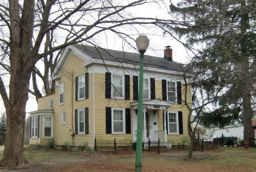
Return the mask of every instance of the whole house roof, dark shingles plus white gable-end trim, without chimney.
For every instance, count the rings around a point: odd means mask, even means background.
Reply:
[[[115,64],[127,64],[139,66],[139,53],[129,53],[125,51],[102,49],[98,47],[92,47],[87,45],[70,45],[65,48],[57,65],[54,67],[53,79],[59,77],[59,73],[67,59],[70,57],[70,53],[74,53],[81,58],[85,63],[90,61],[98,61],[100,63],[114,62]],[[150,55],[144,56],[144,66],[153,67],[155,69],[170,70],[177,73],[182,73],[182,64],[169,61],[165,58],[154,57]]]

